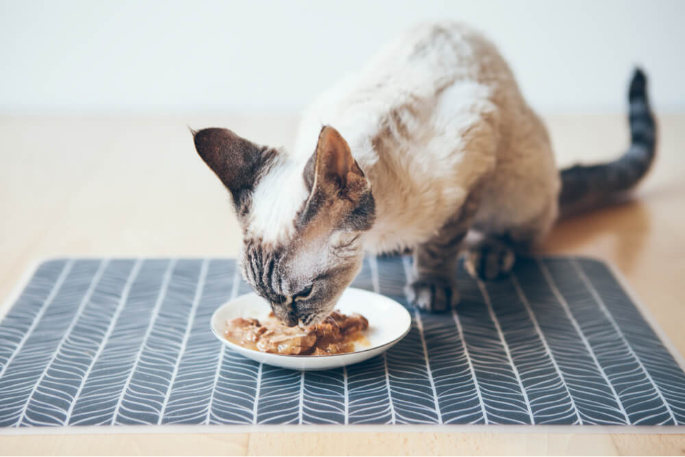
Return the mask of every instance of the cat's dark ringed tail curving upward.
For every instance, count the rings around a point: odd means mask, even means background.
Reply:
[[[561,170],[562,217],[616,201],[647,174],[656,156],[656,123],[649,109],[647,77],[635,69],[628,91],[630,147],[618,159]]]

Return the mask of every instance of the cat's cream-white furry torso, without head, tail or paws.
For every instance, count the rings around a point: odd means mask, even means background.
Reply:
[[[321,125],[343,134],[371,181],[370,251],[423,242],[478,183],[479,230],[542,236],[556,219],[560,182],[547,131],[495,47],[464,25],[415,27],[321,95],[292,160],[303,166]]]

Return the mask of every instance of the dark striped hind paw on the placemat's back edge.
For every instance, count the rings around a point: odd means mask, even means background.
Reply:
[[[466,252],[464,268],[477,279],[495,280],[508,275],[515,261],[516,255],[508,245],[486,238]]]

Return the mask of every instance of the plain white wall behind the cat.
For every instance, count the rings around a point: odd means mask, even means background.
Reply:
[[[414,21],[492,38],[543,112],[685,110],[685,1],[0,0],[0,111],[298,110]]]

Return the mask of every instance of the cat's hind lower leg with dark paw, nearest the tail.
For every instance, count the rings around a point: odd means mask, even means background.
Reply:
[[[556,205],[551,205],[528,223],[512,227],[499,234],[486,234],[469,247],[464,268],[472,277],[496,280],[506,277],[514,268],[516,256],[530,255],[547,235],[556,219]]]

